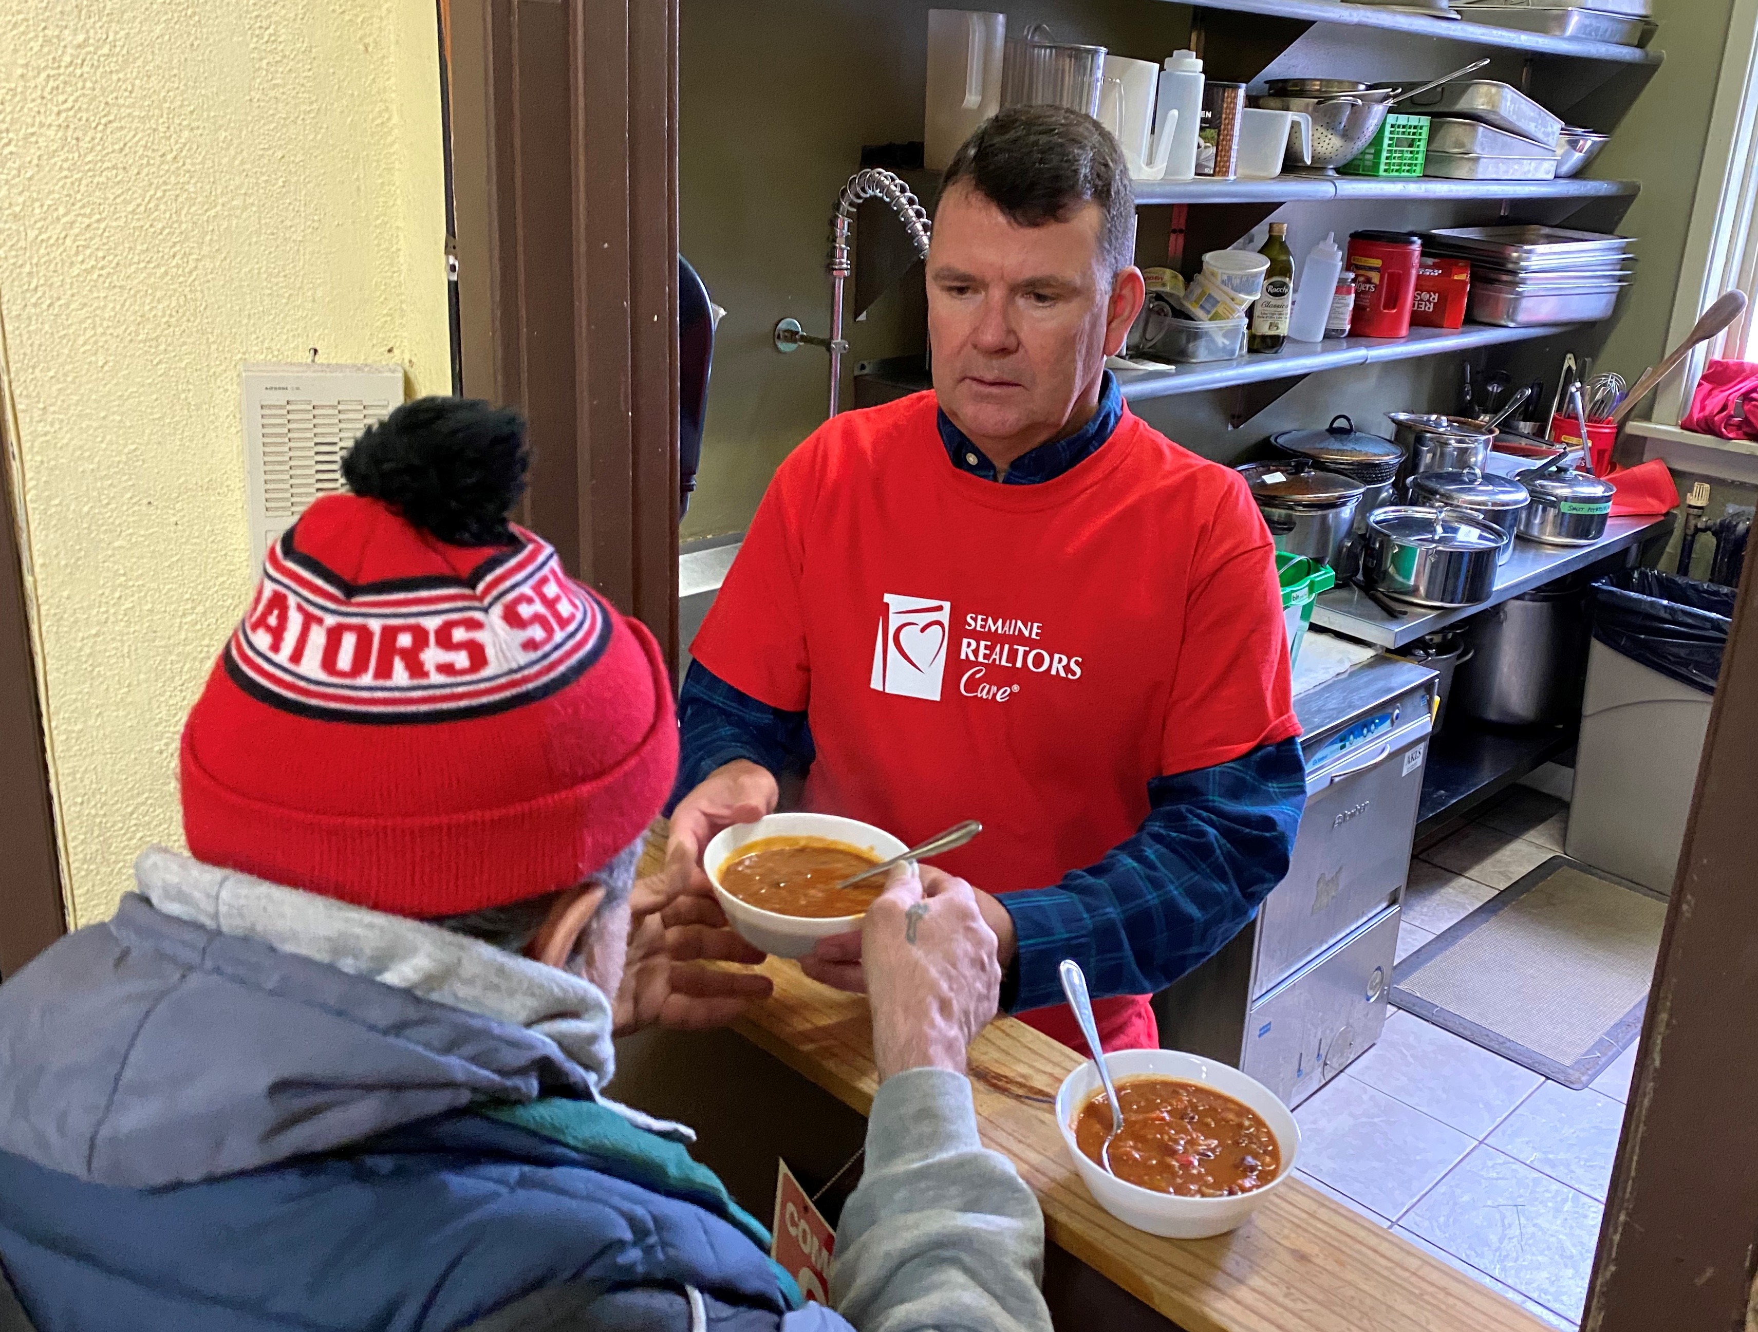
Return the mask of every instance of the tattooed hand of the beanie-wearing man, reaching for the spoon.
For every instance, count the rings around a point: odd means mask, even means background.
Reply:
[[[861,951],[879,1081],[905,1068],[962,1074],[1000,1000],[995,931],[976,889],[926,865],[898,866],[867,909]]]

